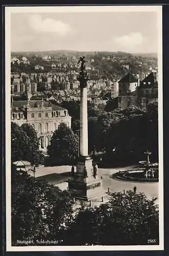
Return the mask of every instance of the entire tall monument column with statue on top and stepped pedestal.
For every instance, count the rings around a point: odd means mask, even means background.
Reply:
[[[80,81],[80,156],[75,175],[68,182],[68,190],[78,199],[91,200],[103,194],[102,180],[93,172],[92,159],[88,156],[88,121],[87,121],[87,72],[85,58],[82,61]]]

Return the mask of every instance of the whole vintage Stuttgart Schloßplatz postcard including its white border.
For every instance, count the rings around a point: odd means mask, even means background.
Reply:
[[[6,250],[163,250],[162,6],[6,6]]]

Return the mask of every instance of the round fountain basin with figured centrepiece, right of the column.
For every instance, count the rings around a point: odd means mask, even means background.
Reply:
[[[142,167],[132,168],[110,176],[113,179],[134,182],[158,182],[158,163],[150,163],[151,152],[144,152],[146,161],[139,161]]]

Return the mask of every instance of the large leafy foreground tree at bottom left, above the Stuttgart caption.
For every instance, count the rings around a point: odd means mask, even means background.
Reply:
[[[45,181],[35,181],[26,172],[12,169],[12,245],[17,240],[63,240],[73,213],[73,198]],[[25,245],[25,244],[21,244]]]

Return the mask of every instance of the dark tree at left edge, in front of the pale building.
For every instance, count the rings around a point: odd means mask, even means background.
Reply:
[[[19,126],[11,122],[11,160],[27,160],[36,165],[43,162],[37,133],[28,123]]]

